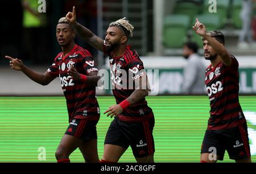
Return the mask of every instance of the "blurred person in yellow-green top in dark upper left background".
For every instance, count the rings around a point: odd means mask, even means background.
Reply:
[[[47,53],[47,19],[39,13],[39,3],[35,0],[22,0],[23,5],[23,60],[31,63],[44,63]]]

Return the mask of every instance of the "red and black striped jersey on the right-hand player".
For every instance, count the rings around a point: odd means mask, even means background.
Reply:
[[[210,65],[205,73],[205,87],[210,100],[209,130],[228,129],[246,122],[240,106],[238,61],[232,57],[232,64],[220,62]]]

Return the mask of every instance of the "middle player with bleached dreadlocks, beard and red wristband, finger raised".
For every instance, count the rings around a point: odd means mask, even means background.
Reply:
[[[154,162],[152,131],[155,119],[145,100],[149,91],[147,76],[137,52],[127,45],[129,37],[133,36],[134,27],[125,18],[119,19],[110,23],[105,40],[102,40],[76,22],[75,7],[66,18],[83,40],[109,55],[111,82],[115,87],[113,94],[117,105],[105,111],[108,117],[115,118],[106,134],[101,161],[117,162],[131,146],[138,162]]]

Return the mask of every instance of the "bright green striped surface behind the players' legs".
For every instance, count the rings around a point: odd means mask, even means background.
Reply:
[[[147,101],[155,114],[155,161],[199,162],[209,118],[208,97],[156,96],[147,97]],[[105,134],[112,121],[103,113],[115,101],[114,97],[98,97],[98,102],[101,109],[97,125],[98,154],[101,158]],[[255,96],[241,96],[240,103],[243,111],[256,112]],[[39,147],[46,148],[44,162],[55,162],[55,150],[69,125],[65,98],[0,97],[0,122],[0,162],[40,162]],[[251,122],[248,126],[256,130]],[[79,150],[73,152],[70,159],[83,161]],[[252,159],[255,162],[256,156]],[[130,148],[119,161],[135,162]],[[226,153],[224,162],[230,161]]]

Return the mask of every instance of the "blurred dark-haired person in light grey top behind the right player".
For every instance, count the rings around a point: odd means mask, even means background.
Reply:
[[[184,44],[183,56],[187,65],[183,69],[183,94],[206,94],[204,80],[205,68],[203,59],[197,54],[198,45],[193,42]]]

